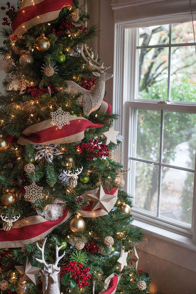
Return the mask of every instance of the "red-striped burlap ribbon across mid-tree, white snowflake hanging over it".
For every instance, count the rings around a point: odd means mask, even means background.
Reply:
[[[111,105],[104,100],[100,107],[102,112],[112,112]],[[69,115],[70,124],[64,125],[62,129],[51,126],[51,119],[42,121],[26,128],[18,138],[18,143],[25,144],[65,144],[81,141],[87,128],[100,128],[103,124],[93,124],[84,117]],[[8,138],[9,141],[9,138]]]

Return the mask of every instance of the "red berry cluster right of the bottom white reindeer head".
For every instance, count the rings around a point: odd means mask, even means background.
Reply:
[[[72,278],[76,279],[76,283],[79,285],[79,288],[84,287],[84,286],[89,286],[90,283],[87,282],[91,279],[91,274],[88,273],[90,268],[82,268],[83,264],[80,262],[77,264],[76,261],[69,262],[67,265],[65,265],[63,268],[60,270],[60,276],[63,277],[65,273],[71,273]]]

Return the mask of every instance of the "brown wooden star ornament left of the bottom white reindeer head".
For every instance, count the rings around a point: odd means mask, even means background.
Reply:
[[[25,260],[24,265],[16,265],[15,268],[21,274],[19,281],[20,284],[28,280],[36,285],[35,274],[38,273],[41,270],[41,268],[31,266],[30,262],[28,262],[28,259]]]

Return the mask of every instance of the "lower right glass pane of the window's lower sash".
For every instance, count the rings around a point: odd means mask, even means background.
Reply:
[[[160,217],[191,224],[194,173],[162,168]]]

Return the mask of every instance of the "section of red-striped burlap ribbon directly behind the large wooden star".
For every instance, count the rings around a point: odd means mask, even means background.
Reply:
[[[82,194],[82,198],[83,199],[89,199],[89,196],[87,194],[96,194],[99,188],[96,188],[94,190],[88,191],[84,194]],[[111,191],[108,191],[107,189],[104,189],[105,194],[110,194],[110,195],[114,195],[114,198],[112,198],[109,201],[109,210],[111,210],[116,201],[117,201],[117,197],[118,197],[118,189],[117,188],[113,188]],[[92,205],[93,205],[93,201],[89,199],[89,205],[88,206],[83,206],[82,210],[79,211],[79,213],[81,214],[82,217],[101,217],[103,215],[108,214],[107,211],[98,208],[96,210],[92,211]]]

